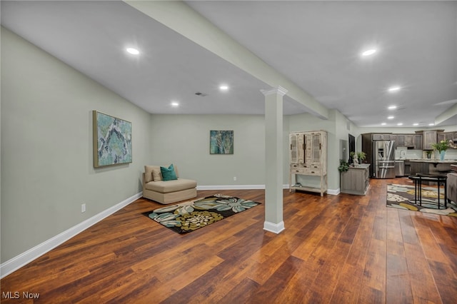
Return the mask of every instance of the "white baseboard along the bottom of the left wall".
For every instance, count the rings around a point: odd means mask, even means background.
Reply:
[[[20,255],[17,255],[14,258],[7,260],[5,263],[2,263],[0,265],[0,278],[6,277],[6,275],[13,273],[14,271],[18,270],[24,265],[30,263],[32,260],[39,258],[41,255],[44,255],[44,253],[47,253],[50,250],[56,248],[61,243],[64,243],[66,240],[69,240],[70,238],[73,238],[78,233],[81,233],[82,231],[86,230],[95,223],[98,223],[99,221],[103,220],[107,216],[111,216],[111,214],[129,205],[129,203],[132,203],[133,201],[136,201],[136,199],[141,198],[142,195],[143,193],[141,192],[137,193],[134,196],[131,196],[124,201],[121,201],[121,203],[118,203],[106,209],[105,211],[101,211],[101,213],[96,214],[91,218],[88,218],[86,221],[83,221],[77,224],[76,226],[73,226],[68,230],[65,230],[64,232],[59,233],[58,235],[52,238],[49,238],[49,240],[45,240],[43,243],[36,245],[34,248],[30,248],[24,253],[21,253]]]

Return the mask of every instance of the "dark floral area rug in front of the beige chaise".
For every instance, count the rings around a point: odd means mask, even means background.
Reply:
[[[143,213],[177,233],[188,233],[257,206],[260,203],[215,194]]]

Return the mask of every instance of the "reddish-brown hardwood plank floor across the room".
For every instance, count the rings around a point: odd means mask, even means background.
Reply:
[[[263,190],[199,191],[262,205],[186,235],[139,199],[2,279],[1,303],[456,303],[457,218],[386,208],[388,183],[409,181],[285,190],[278,235],[263,230]]]

